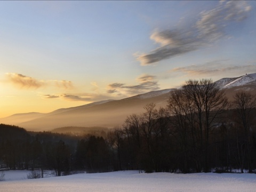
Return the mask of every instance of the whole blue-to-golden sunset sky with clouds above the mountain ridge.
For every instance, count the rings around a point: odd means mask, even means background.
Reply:
[[[255,1],[0,1],[0,118],[256,73]]]

